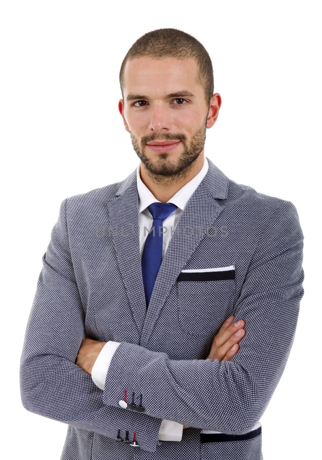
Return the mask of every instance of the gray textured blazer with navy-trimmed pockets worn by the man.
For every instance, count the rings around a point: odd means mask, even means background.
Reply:
[[[69,425],[61,460],[263,458],[252,428],[293,344],[304,237],[292,202],[206,159],[148,309],[136,170],[61,203],[20,361],[23,407]],[[230,315],[245,321],[240,350],[205,359]],[[75,365],[84,337],[121,342],[104,391]],[[181,442],[158,440],[162,419],[189,426]]]

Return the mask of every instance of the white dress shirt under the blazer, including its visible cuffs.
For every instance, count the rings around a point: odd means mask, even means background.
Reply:
[[[196,174],[187,184],[181,187],[172,198],[170,198],[167,203],[173,203],[177,206],[166,219],[163,220],[162,229],[163,233],[163,243],[162,243],[162,260],[164,254],[166,253],[170,238],[172,236],[173,230],[178,224],[178,220],[181,217],[181,214],[184,211],[184,207],[187,204],[190,196],[196,190],[198,185],[201,183],[201,180],[205,177],[208,171],[208,161],[205,157],[203,166],[199,173]],[[150,204],[161,201],[157,200],[155,196],[150,192],[147,186],[142,182],[140,177],[141,171],[141,161],[138,164],[137,168],[137,186],[138,186],[138,226],[139,226],[139,239],[140,239],[140,254],[142,259],[143,247],[145,239],[149,234],[149,231],[152,227],[153,217],[148,209]],[[144,227],[146,227],[144,231]],[[167,230],[166,230],[167,229]],[[101,352],[99,353],[96,361],[94,362],[92,368],[92,380],[99,388],[104,390],[105,380],[107,371],[109,369],[109,364],[112,360],[116,348],[120,345],[121,342],[115,342],[109,340],[106,342]],[[174,422],[172,420],[162,420],[160,430],[159,430],[159,440],[161,441],[181,441],[183,432],[183,425],[180,423]],[[217,431],[207,431],[216,433]]]

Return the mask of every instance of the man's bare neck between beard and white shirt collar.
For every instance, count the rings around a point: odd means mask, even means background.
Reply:
[[[157,200],[162,203],[166,203],[177,193],[178,190],[180,190],[185,184],[194,178],[199,171],[201,171],[204,161],[205,157],[202,151],[196,161],[194,161],[191,165],[191,168],[188,168],[188,170],[184,171],[183,174],[178,174],[178,180],[172,176],[171,178],[165,178],[165,180],[161,182],[159,178],[155,181],[155,178],[151,176],[150,172],[147,171],[141,161],[140,178]]]

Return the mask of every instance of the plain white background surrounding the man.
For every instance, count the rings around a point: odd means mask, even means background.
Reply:
[[[299,213],[305,294],[286,369],[261,418],[263,454],[264,460],[316,458],[319,2],[7,0],[0,8],[5,458],[60,458],[67,425],[28,412],[20,400],[19,360],[41,258],[65,197],[122,180],[137,167],[117,107],[119,70],[135,40],[166,27],[195,36],[213,62],[222,106],[207,130],[205,155],[229,178],[292,201]]]

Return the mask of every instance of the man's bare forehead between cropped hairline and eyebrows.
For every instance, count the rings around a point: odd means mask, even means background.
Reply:
[[[127,61],[124,68],[124,92],[152,94],[158,90],[163,93],[183,87],[202,92],[201,86],[196,83],[197,70],[194,59],[136,57]]]

